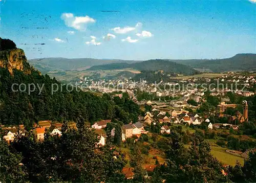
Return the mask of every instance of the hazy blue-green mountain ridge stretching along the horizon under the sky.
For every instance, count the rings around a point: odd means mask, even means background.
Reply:
[[[204,71],[211,70],[212,72],[225,72],[225,71],[256,71],[256,54],[237,54],[230,58],[224,59],[189,59],[189,60],[171,60],[163,59],[165,61],[176,62],[178,64],[183,64],[190,68],[201,68]],[[42,73],[55,71],[55,70],[85,70],[89,67],[90,70],[96,70],[96,68],[101,70],[104,69],[106,65],[108,68],[112,69],[122,69],[122,68],[131,68],[136,67],[138,70],[144,70],[143,65],[140,64],[143,60],[119,60],[119,59],[92,59],[92,58],[41,58],[41,59],[32,59],[28,60],[35,68],[40,70]],[[167,62],[166,62],[167,63]],[[135,64],[135,65],[127,65]],[[157,64],[157,63],[154,63]],[[151,64],[151,67],[154,67],[154,64]],[[94,67],[99,65],[98,67]],[[187,68],[186,67],[186,68]],[[165,70],[163,66],[158,65],[159,70]],[[163,68],[163,69],[162,69]]]

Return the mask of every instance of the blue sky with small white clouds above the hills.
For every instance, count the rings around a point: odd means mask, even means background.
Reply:
[[[226,58],[256,53],[252,1],[2,0],[0,36],[28,59]]]

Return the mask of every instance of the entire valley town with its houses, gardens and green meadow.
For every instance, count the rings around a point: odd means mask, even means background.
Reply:
[[[141,114],[137,121],[128,124],[119,122],[118,130],[117,123],[111,119],[87,122],[87,126],[98,134],[98,148],[103,147],[109,139],[115,139],[116,136],[119,138],[121,144],[116,148],[116,153],[126,154],[128,163],[123,173],[127,179],[133,178],[134,175],[133,168],[129,165],[130,148],[134,148],[134,144],[141,148],[144,152],[141,156],[142,165],[148,173],[153,172],[157,166],[155,161],[158,164],[165,162],[164,142],[174,128],[183,133],[187,148],[190,146],[189,136],[195,131],[201,132],[210,143],[211,153],[223,163],[223,167],[236,165],[237,161],[243,164],[243,159],[248,153],[256,150],[253,134],[246,135],[243,132],[248,128],[244,125],[248,123],[248,119],[255,120],[255,117],[250,115],[251,102],[246,101],[255,94],[254,78],[255,75],[248,73],[227,73],[214,78],[176,78],[174,82],[161,81],[157,86],[156,83],[147,83],[145,80],[135,84],[129,79],[124,79],[109,81],[108,87],[103,80],[91,80],[90,86],[82,89],[91,89],[96,95],[109,95],[120,100],[129,98],[140,107]],[[198,85],[203,82],[207,83],[206,86],[210,90]],[[210,87],[212,83],[217,82],[225,87]],[[176,87],[184,83],[190,84],[190,88],[181,90]],[[232,88],[234,83],[237,84],[235,90]],[[166,86],[174,87],[167,90],[164,89]],[[77,129],[75,122],[68,122],[68,126]],[[46,133],[61,135],[61,127],[62,123],[57,121],[39,121],[33,125],[31,131],[38,141],[44,141]],[[8,143],[26,132],[24,125],[2,126],[2,129],[6,134],[3,138]],[[248,141],[252,145],[234,147],[232,143],[236,140],[241,144]],[[223,174],[226,174],[224,169]]]

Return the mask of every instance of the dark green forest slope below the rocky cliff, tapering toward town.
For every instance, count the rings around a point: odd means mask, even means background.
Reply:
[[[139,107],[136,103],[124,97],[113,100],[112,97],[97,97],[92,93],[72,90],[51,79],[31,70],[31,74],[14,70],[13,75],[5,68],[0,68],[0,124],[24,124],[31,127],[41,120],[75,121],[78,116],[94,122],[103,119],[118,119],[123,123],[137,121]],[[12,90],[12,84],[16,83]],[[35,90],[29,95],[28,90],[20,91],[29,84],[35,84]],[[58,90],[52,93],[52,86]],[[39,86],[41,89],[37,87]]]

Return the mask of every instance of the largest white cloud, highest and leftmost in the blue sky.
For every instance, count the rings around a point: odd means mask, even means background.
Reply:
[[[65,21],[66,26],[72,27],[78,31],[85,31],[87,24],[96,21],[89,16],[74,16],[73,13],[62,13],[61,19]]]

